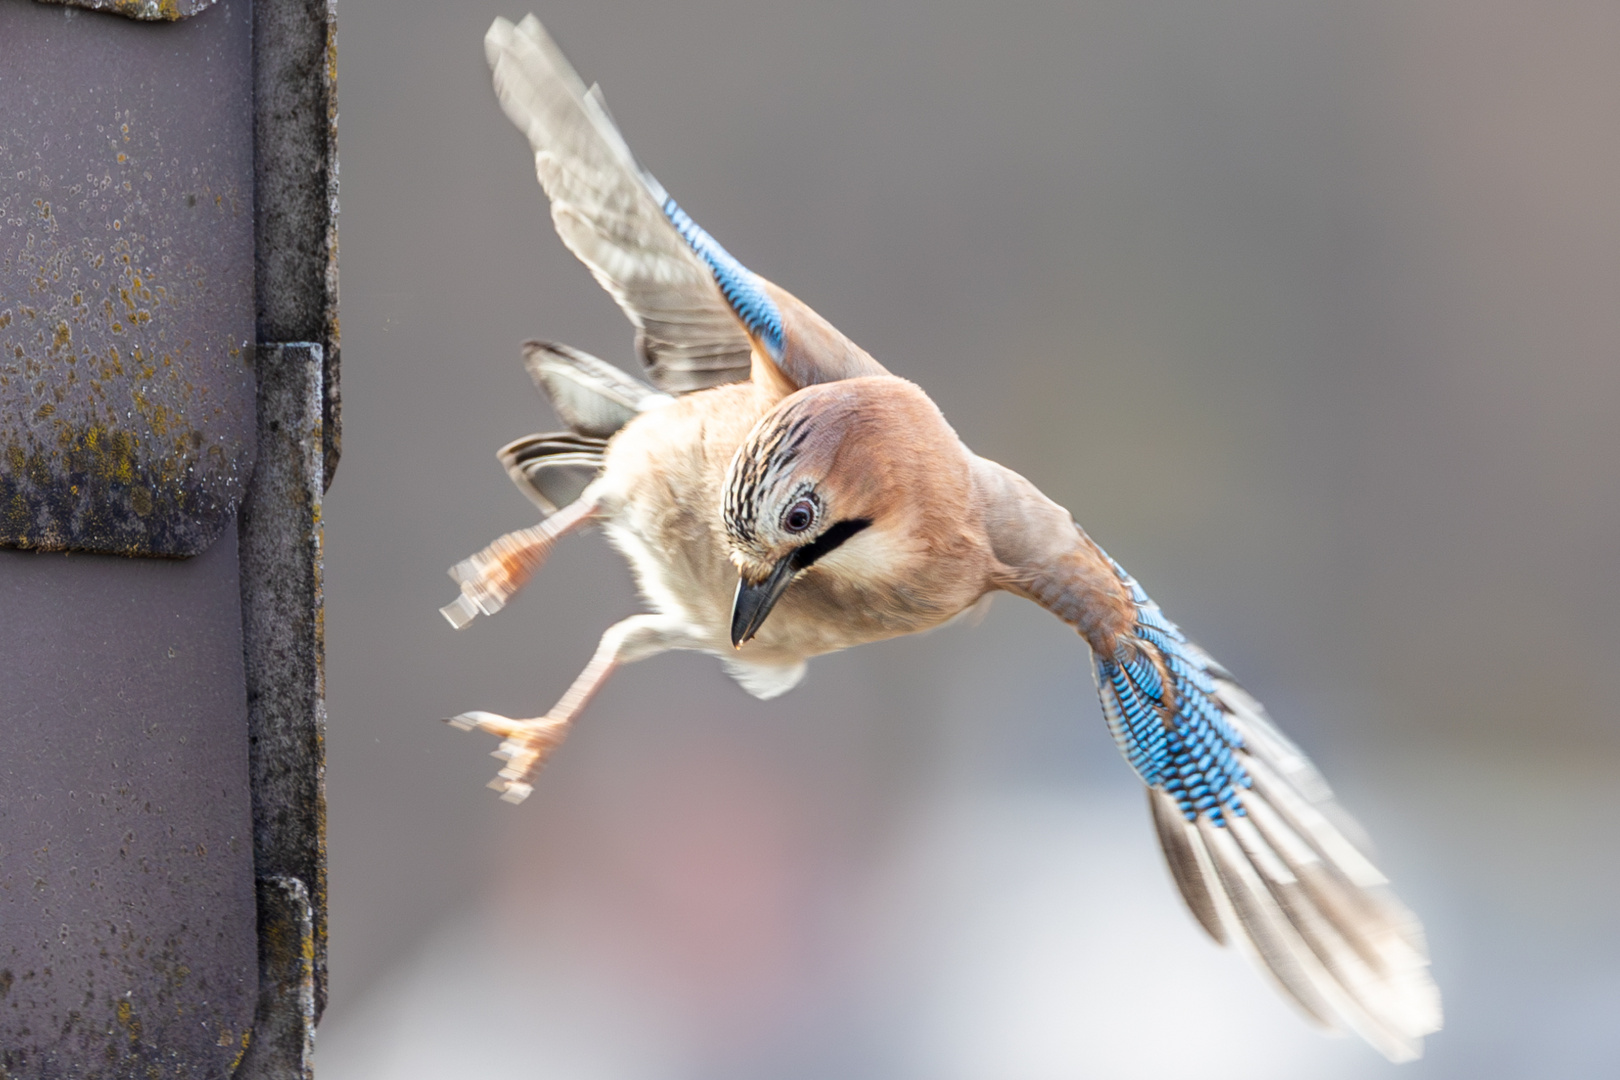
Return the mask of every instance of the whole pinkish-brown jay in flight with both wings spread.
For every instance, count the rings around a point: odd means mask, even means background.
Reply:
[[[1440,1028],[1422,928],[1231,672],[1068,510],[962,445],[920,387],[687,217],[535,16],[497,18],[484,52],[557,233],[635,325],[650,381],[565,345],[525,347],[569,431],[499,457],[546,517],[457,563],[444,615],[462,628],[501,610],[586,525],[624,552],[651,610],[609,627],[548,714],[450,721],[501,737],[491,787],[522,801],[620,664],[710,653],[774,698],[813,656],[1013,593],[1090,646],[1103,717],[1197,923],[1322,1028],[1418,1057]]]

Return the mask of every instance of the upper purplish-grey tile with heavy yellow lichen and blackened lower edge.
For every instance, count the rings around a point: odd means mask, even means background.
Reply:
[[[248,0],[0,5],[0,544],[193,555],[253,470]]]

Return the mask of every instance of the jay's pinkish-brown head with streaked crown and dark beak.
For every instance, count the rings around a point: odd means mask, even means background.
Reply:
[[[805,387],[766,413],[726,474],[732,644],[812,567],[859,583],[914,559],[930,520],[961,502],[962,455],[933,402],[893,376]]]

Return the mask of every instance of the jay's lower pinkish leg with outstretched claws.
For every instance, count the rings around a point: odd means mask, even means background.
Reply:
[[[520,803],[535,790],[533,779],[546,763],[546,756],[562,742],[569,724],[601,690],[614,669],[667,649],[697,648],[701,648],[701,640],[684,622],[667,615],[630,615],[603,633],[591,662],[546,716],[514,721],[496,712],[463,712],[449,724],[463,732],[478,729],[501,737],[501,748],[494,756],[504,758],[507,766],[489,787],[501,792],[505,801]]]

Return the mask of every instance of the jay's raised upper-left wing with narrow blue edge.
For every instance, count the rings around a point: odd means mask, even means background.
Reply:
[[[792,390],[883,368],[784,290],[752,274],[643,170],[599,89],[586,89],[533,15],[484,36],[496,96],[535,149],[557,235],[637,327],[672,393],[768,376]],[[755,364],[770,364],[766,372]]]

